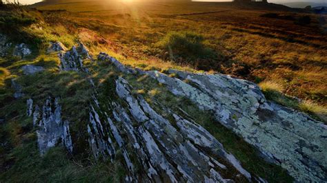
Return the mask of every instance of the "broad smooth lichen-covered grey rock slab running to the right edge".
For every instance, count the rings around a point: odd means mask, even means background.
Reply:
[[[120,72],[146,74],[166,85],[172,94],[189,98],[199,109],[212,111],[217,122],[257,147],[266,160],[287,169],[297,181],[327,181],[326,125],[267,101],[255,83],[221,74],[176,70],[168,71],[175,75],[170,77],[157,71],[126,67],[104,53],[98,58],[110,61]],[[133,106],[130,103],[131,109]],[[135,118],[142,118],[141,114],[135,108]]]

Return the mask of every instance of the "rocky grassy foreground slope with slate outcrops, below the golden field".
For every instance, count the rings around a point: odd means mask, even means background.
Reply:
[[[1,182],[326,181],[326,125],[255,83],[124,65],[43,12],[6,8]]]

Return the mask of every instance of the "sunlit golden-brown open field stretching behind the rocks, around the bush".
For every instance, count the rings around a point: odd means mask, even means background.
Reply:
[[[308,14],[311,23],[297,25],[292,19],[306,14],[195,2],[72,2],[38,9],[67,10],[44,12],[46,21],[65,27],[89,45],[98,42],[122,54],[131,65],[162,68],[177,63],[256,83],[273,81],[285,94],[327,103],[326,25],[321,23],[326,16]],[[261,16],[267,12],[277,12],[281,19]],[[176,58],[170,63],[155,45],[168,32],[181,31],[203,35],[217,58],[193,63]]]

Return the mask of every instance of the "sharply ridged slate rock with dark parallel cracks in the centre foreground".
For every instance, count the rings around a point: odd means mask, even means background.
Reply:
[[[101,98],[105,102],[93,96],[89,142],[97,158],[113,160],[117,152],[122,153],[130,173],[127,181],[233,182],[232,179],[256,178],[206,129],[170,109],[163,109],[175,118],[177,128],[142,96],[133,95],[126,80],[117,78],[115,86],[115,95],[127,106],[112,100],[112,94]],[[141,166],[141,174],[136,172],[135,166]],[[237,173],[230,177],[222,175],[221,171],[227,169]]]

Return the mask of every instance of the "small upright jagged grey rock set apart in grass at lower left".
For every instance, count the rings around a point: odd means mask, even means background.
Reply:
[[[27,100],[27,114],[33,117],[33,124],[38,127],[37,144],[41,155],[59,143],[72,152],[69,122],[61,119],[61,106],[58,102],[59,98],[49,97],[42,108],[35,105],[33,109],[33,100]]]

